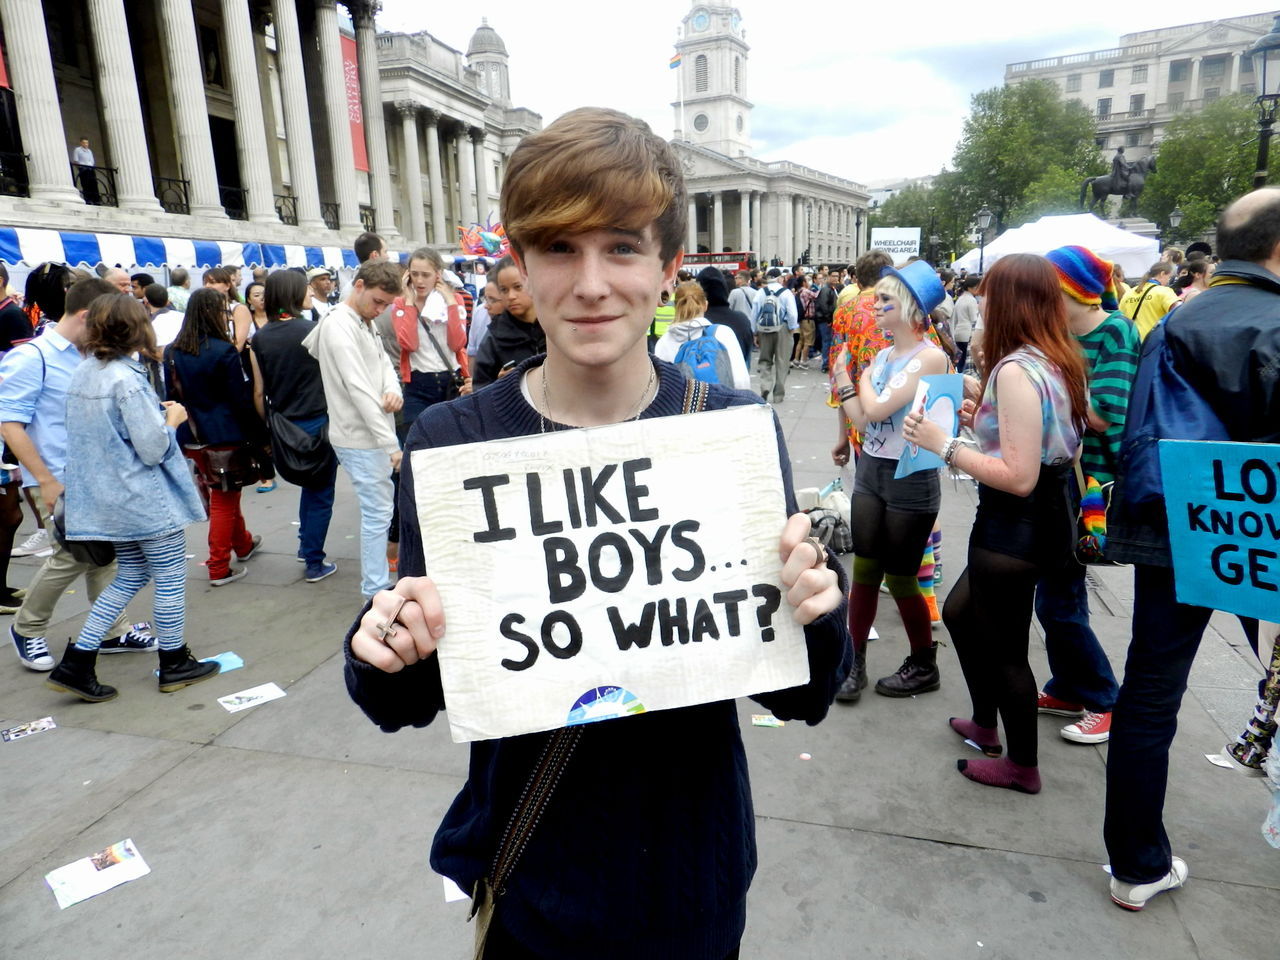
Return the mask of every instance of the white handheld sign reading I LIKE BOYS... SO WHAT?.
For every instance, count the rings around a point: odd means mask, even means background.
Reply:
[[[416,451],[411,468],[454,741],[808,682],[767,407]]]

